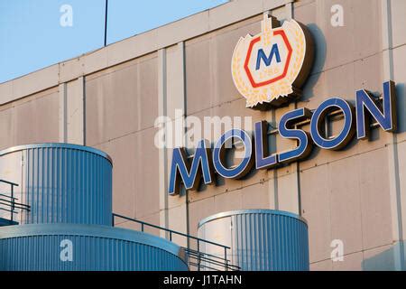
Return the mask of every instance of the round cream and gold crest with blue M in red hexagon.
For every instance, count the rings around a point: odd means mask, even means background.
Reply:
[[[309,75],[314,45],[308,29],[294,20],[279,26],[266,15],[262,33],[248,34],[235,46],[231,72],[246,107],[278,107],[299,97]]]

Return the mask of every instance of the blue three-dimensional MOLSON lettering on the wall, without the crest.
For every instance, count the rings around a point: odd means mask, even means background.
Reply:
[[[255,169],[271,169],[281,163],[291,163],[309,156],[313,144],[327,150],[339,150],[346,146],[355,135],[358,139],[368,137],[370,120],[374,118],[384,131],[396,130],[396,96],[392,81],[383,83],[382,102],[375,99],[367,90],[358,90],[355,94],[355,107],[342,98],[328,98],[317,109],[299,108],[287,112],[280,119],[279,135],[286,139],[297,140],[298,145],[282,153],[269,154],[266,121],[254,125],[254,137],[242,129],[231,129],[221,135],[213,149],[205,140],[198,142],[194,157],[188,160],[184,148],[173,149],[169,193],[179,194],[180,181],[186,190],[197,190],[201,178],[205,184],[214,182],[214,172],[226,179],[240,179],[255,165]],[[333,111],[341,110],[344,124],[341,132],[333,137],[323,133],[325,118]],[[310,131],[295,128],[295,125],[310,119]],[[242,161],[228,168],[226,166],[226,142],[231,138],[241,140],[245,146]]]

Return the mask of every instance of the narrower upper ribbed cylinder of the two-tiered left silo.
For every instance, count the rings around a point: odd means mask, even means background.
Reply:
[[[75,144],[34,144],[18,150],[23,152],[21,198],[31,206],[22,214],[22,224],[111,224],[112,164],[106,155]]]

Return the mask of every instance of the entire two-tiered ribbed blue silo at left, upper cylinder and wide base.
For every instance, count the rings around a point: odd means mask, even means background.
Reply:
[[[188,270],[183,248],[111,227],[112,166],[107,154],[77,144],[1,151],[0,180],[15,184],[12,196],[3,197],[26,207],[0,211],[18,223],[0,227],[0,270]]]

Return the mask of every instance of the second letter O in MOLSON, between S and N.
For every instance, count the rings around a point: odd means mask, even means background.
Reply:
[[[325,117],[329,113],[340,109],[344,114],[344,126],[338,135],[332,138],[327,138],[320,134],[322,126],[324,126]],[[355,134],[355,122],[354,122],[354,107],[342,98],[329,98],[325,100],[318,109],[315,110],[311,117],[310,134],[314,143],[318,147],[327,150],[339,150],[346,146],[351,138]]]

